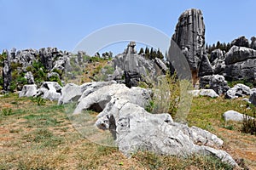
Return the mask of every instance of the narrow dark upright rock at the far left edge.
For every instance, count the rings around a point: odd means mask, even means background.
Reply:
[[[9,85],[12,81],[11,77],[11,66],[10,66],[10,55],[9,51],[7,49],[3,50],[3,55],[5,56],[5,59],[3,59],[3,90],[9,91]]]

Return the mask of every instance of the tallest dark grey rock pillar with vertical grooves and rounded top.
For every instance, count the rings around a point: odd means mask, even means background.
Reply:
[[[200,9],[191,8],[181,14],[172,40],[189,63],[194,85],[199,76],[212,74],[205,49],[205,24]],[[172,59],[168,60],[172,63]]]

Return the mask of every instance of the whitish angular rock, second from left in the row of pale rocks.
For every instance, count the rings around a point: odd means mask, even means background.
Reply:
[[[58,82],[43,82],[38,88],[36,96],[41,96],[43,99],[58,100],[61,97],[61,86]]]

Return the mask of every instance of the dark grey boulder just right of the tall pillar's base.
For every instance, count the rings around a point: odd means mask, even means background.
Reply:
[[[224,76],[212,75],[200,78],[200,88],[213,89],[217,94],[225,94],[230,87]]]

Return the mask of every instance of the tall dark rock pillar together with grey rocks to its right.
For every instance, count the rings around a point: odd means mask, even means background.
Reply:
[[[256,37],[251,40],[249,43],[246,37],[238,37],[231,42],[230,51],[225,53],[221,49],[215,49],[208,59],[203,16],[201,10],[195,8],[180,15],[172,36],[172,43],[177,44],[189,64],[194,87],[197,88],[198,85],[201,89],[213,89],[218,95],[224,94],[229,99],[233,99],[235,94],[226,80],[256,82]],[[176,64],[172,52],[167,60],[171,65]]]

